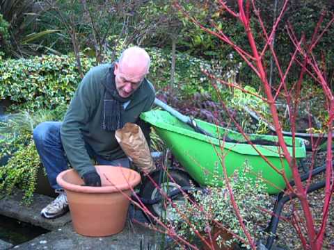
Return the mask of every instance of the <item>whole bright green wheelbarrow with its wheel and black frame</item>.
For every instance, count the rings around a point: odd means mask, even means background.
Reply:
[[[177,113],[177,111],[175,112]],[[163,198],[159,189],[166,190],[168,197],[172,198],[174,203],[182,203],[180,192],[193,190],[193,184],[199,189],[205,188],[205,186],[212,184],[210,182],[212,181],[212,175],[216,174],[217,171],[218,174],[223,176],[223,168],[225,168],[228,176],[230,176],[235,169],[242,168],[247,163],[250,178],[261,176],[262,181],[267,186],[267,192],[277,194],[273,216],[268,226],[268,231],[271,231],[274,235],[284,204],[289,199],[294,198],[285,195],[286,183],[282,174],[278,173],[284,172],[290,184],[294,185],[294,182],[291,181],[292,171],[283,156],[283,151],[278,147],[278,138],[273,135],[248,135],[249,139],[255,144],[255,150],[251,144],[246,142],[241,133],[199,119],[182,120],[177,117],[180,113],[176,114],[176,117],[174,112],[172,112],[173,115],[170,115],[170,113],[170,110],[168,112],[152,110],[143,113],[141,119],[154,127],[154,130],[166,143],[166,146],[183,169],[172,167],[168,170],[168,175],[173,178],[173,181],[162,177],[164,174],[161,174],[161,172],[164,171],[152,174],[153,181],[156,184],[153,184],[152,180],[144,180],[139,195],[143,203],[148,205],[149,210],[154,215],[161,216],[164,213],[166,217],[169,217],[168,208],[161,206],[160,202]],[[297,160],[305,158],[306,150],[303,139],[295,138],[294,147],[292,147],[292,137],[285,137],[284,140],[287,143],[289,153],[294,155]],[[267,158],[270,165],[260,154]],[[222,155],[224,157],[221,157]],[[312,173],[303,174],[301,179],[303,181],[309,177],[309,174],[314,176],[324,172],[324,169],[326,167],[313,169]],[[312,192],[323,186],[324,183],[317,183],[315,186],[312,185],[309,191]],[[173,216],[173,213],[170,213],[170,215]],[[268,238],[267,249],[271,249],[273,240],[274,236]]]

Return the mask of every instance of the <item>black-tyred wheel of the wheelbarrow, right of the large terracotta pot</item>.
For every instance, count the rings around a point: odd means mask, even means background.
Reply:
[[[168,175],[171,176],[171,178],[169,178]],[[193,185],[191,177],[180,169],[169,169],[168,174],[163,174],[161,171],[157,171],[150,176],[152,181],[150,178],[145,178],[143,185],[141,185],[140,195],[146,200],[154,200],[156,198],[161,199],[157,203],[147,204],[146,207],[154,216],[173,219],[175,214],[173,215],[172,203],[166,199],[166,196],[173,190],[180,190],[182,187]],[[173,203],[184,203],[183,194],[180,193],[174,196]]]

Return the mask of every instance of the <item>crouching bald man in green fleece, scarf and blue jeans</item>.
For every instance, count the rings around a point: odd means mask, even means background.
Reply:
[[[91,158],[99,165],[129,167],[129,159],[120,149],[115,131],[126,122],[148,129],[139,119],[154,102],[154,88],[145,79],[150,56],[139,47],[123,51],[118,62],[93,67],[83,78],[70,103],[63,123],[43,122],[33,131],[35,145],[45,166],[51,187],[58,197],[41,215],[53,219],[68,211],[65,192],[56,176],[68,163],[77,170],[84,183],[100,186],[101,178]]]

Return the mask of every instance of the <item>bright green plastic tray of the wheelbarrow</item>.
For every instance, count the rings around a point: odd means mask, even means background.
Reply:
[[[253,148],[247,143],[223,142],[223,137],[228,136],[239,142],[246,141],[241,133],[231,131],[216,124],[210,124],[196,119],[201,128],[212,133],[215,138],[202,135],[193,131],[189,125],[180,122],[170,113],[161,110],[151,110],[143,113],[141,119],[154,126],[159,137],[164,140],[167,147],[172,151],[175,158],[186,169],[189,175],[200,185],[212,184],[212,176],[216,172],[223,176],[223,167],[226,168],[228,176],[235,169],[244,168],[248,163],[251,178],[261,176],[267,185],[269,194],[276,194],[285,189],[285,181]],[[218,140],[221,138],[222,140]],[[249,135],[250,140],[267,140],[278,142],[277,136],[273,135]],[[289,153],[296,158],[304,158],[306,155],[303,139],[295,138],[294,149],[293,138],[285,137]],[[256,149],[267,158],[267,160],[280,172],[285,172],[288,180],[292,178],[292,171],[283,157],[280,147],[255,145]]]

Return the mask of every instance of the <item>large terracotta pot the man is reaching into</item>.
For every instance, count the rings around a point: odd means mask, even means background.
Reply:
[[[130,187],[137,185],[141,176],[123,167],[97,165],[95,168],[101,176],[102,187],[83,186],[84,181],[74,169],[61,172],[57,182],[67,194],[77,233],[93,237],[113,235],[125,226],[129,207],[125,194],[131,195]]]

